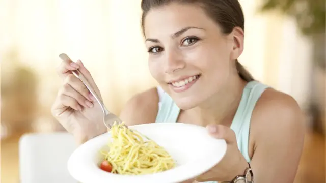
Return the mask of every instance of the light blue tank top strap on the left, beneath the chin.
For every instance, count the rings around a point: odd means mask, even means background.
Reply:
[[[172,98],[165,92],[162,92],[160,87],[157,87],[160,98],[158,113],[155,123],[175,123],[177,122],[180,108],[173,102]]]

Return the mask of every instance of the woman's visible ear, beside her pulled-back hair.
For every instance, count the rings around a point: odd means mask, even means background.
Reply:
[[[238,59],[243,52],[244,32],[242,28],[235,27],[232,31],[233,47],[231,52],[231,60]]]

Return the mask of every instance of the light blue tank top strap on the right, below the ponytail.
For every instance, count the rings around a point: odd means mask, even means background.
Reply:
[[[238,148],[248,162],[251,161],[248,153],[251,116],[257,101],[268,87],[258,81],[249,82],[243,89],[240,104],[231,124]]]

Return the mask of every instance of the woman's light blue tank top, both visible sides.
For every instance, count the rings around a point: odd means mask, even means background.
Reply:
[[[232,120],[231,129],[235,132],[238,148],[247,162],[251,161],[248,154],[251,115],[261,94],[268,87],[258,81],[248,82],[243,89],[240,104]],[[157,91],[160,102],[155,123],[167,123],[167,121],[176,123],[180,109],[160,87],[157,87]],[[216,182],[209,181],[206,183]]]

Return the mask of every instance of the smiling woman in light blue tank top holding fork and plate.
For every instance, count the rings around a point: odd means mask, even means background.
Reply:
[[[290,96],[253,79],[237,58],[244,19],[237,0],[143,0],[149,69],[160,87],[133,97],[121,112],[127,125],[165,121],[206,126],[227,141],[227,153],[197,181],[293,182],[303,147],[303,115]],[[65,60],[65,84],[52,113],[80,143],[105,132],[102,113]],[[250,132],[250,133],[249,133]],[[252,168],[252,172],[249,167]]]

